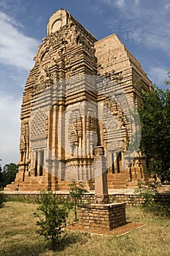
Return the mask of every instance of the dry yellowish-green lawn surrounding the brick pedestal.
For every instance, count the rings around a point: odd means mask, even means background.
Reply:
[[[61,241],[60,249],[53,252],[50,242],[36,233],[34,211],[37,205],[23,202],[7,202],[0,209],[1,256],[129,256],[170,255],[170,219],[155,217],[140,208],[127,208],[128,222],[144,222],[147,225],[119,238],[85,236],[70,231]],[[69,217],[69,222],[74,214]]]

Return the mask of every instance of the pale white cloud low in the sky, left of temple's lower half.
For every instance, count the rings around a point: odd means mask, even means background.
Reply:
[[[1,165],[18,162],[20,138],[20,99],[0,92]]]

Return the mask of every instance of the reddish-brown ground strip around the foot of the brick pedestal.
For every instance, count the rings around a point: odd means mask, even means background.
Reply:
[[[144,227],[144,223],[129,222],[121,227],[116,227],[113,230],[103,230],[99,228],[85,228],[80,225],[80,222],[73,223],[66,226],[66,230],[78,230],[81,233],[90,233],[91,235],[103,235],[103,236],[123,236],[132,230],[136,230],[140,227]]]

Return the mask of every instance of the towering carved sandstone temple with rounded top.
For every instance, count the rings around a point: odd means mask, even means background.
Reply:
[[[125,165],[131,108],[152,87],[116,34],[97,41],[66,10],[47,23],[23,93],[19,172],[6,190],[68,189],[72,179],[93,189],[96,146],[104,146],[109,189],[137,184],[144,159]],[[125,94],[128,97],[125,97]]]

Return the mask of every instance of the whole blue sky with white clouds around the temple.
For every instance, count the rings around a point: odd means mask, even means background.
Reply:
[[[0,0],[0,159],[18,162],[23,88],[46,25],[68,10],[97,39],[117,34],[163,87],[170,67],[170,0]]]

